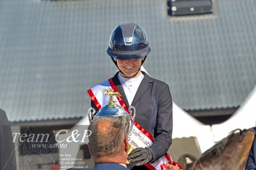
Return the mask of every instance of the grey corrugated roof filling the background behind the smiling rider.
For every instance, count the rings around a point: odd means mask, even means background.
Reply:
[[[256,1],[214,1],[213,15],[168,17],[163,0],[0,1],[0,108],[10,121],[84,116],[86,90],[116,68],[111,31],[136,22],[145,68],[183,109],[241,105],[256,84]]]

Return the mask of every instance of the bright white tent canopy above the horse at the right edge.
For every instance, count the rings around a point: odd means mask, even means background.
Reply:
[[[236,128],[244,129],[256,125],[256,86],[237,111],[225,122],[212,125],[214,141],[220,141]]]

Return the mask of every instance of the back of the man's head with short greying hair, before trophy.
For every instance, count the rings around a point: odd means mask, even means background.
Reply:
[[[101,116],[88,127],[92,130],[89,142],[93,157],[119,155],[124,150],[125,128],[118,116]]]

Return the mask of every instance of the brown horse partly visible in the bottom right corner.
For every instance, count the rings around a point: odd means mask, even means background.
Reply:
[[[240,170],[244,169],[254,133],[251,130],[236,129],[214,144],[201,157],[186,164],[186,170]],[[188,156],[188,155],[187,155]],[[181,158],[181,157],[180,157]],[[179,162],[179,161],[178,161]]]

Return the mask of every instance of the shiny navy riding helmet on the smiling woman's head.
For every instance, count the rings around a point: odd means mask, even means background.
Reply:
[[[108,46],[108,55],[114,63],[115,59],[133,60],[147,57],[150,52],[145,31],[134,23],[116,26],[111,33]]]

